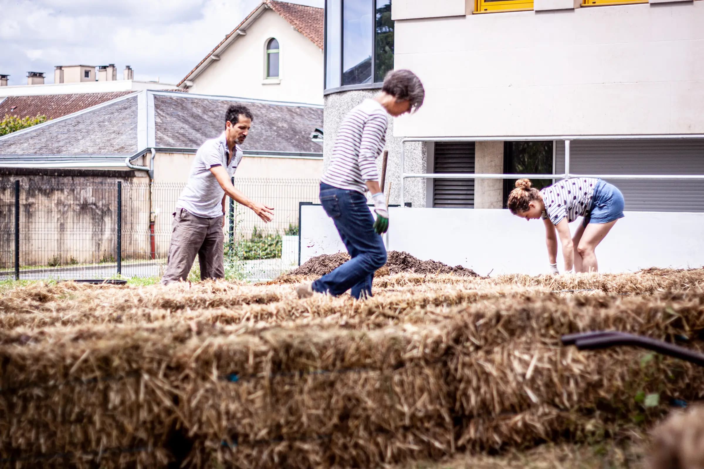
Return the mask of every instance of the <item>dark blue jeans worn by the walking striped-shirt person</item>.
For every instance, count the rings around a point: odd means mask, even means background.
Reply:
[[[372,296],[372,279],[386,264],[386,248],[374,231],[367,198],[357,191],[320,183],[320,203],[352,259],[313,282],[313,291],[337,296],[351,288],[355,298]]]

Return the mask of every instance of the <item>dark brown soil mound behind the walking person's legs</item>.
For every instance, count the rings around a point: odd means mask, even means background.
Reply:
[[[288,275],[325,275],[332,272],[349,260],[349,256],[344,252],[333,255],[321,255],[308,259],[308,262],[289,272]],[[472,269],[463,266],[448,266],[442,262],[433,260],[422,261],[408,252],[389,251],[386,260],[386,268],[389,274],[400,274],[401,272],[415,272],[416,274],[453,274],[465,277],[478,277],[479,275]],[[384,269],[384,267],[382,267]],[[382,271],[379,269],[379,271]]]

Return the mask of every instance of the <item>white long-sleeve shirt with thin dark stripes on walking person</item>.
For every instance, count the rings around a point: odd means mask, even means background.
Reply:
[[[332,160],[320,179],[349,191],[367,192],[365,181],[378,181],[377,156],[386,143],[386,110],[366,99],[344,118],[332,149]]]

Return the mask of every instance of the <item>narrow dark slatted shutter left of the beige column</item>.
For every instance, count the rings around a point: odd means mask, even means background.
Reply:
[[[474,142],[436,142],[436,173],[473,173]],[[433,207],[474,208],[474,179],[435,179]]]

